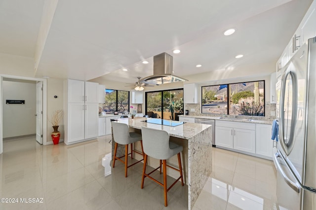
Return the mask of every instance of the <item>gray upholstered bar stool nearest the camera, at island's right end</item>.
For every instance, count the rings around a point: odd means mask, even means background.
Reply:
[[[173,185],[180,179],[181,179],[181,184],[183,186],[182,166],[181,166],[181,158],[180,158],[180,152],[183,150],[183,147],[170,142],[169,134],[166,131],[148,128],[144,126],[142,127],[142,139],[143,139],[143,147],[144,147],[144,167],[143,167],[141,188],[143,189],[144,187],[145,177],[148,177],[149,179],[163,186],[164,206],[166,207],[168,206],[167,192],[170,190],[170,188],[173,187]],[[166,163],[167,159],[169,159],[170,157],[176,154],[178,154],[179,169],[169,166]],[[152,172],[148,174],[146,174],[147,156],[160,160],[159,167],[154,169]],[[162,161],[162,171],[163,171],[163,183],[149,176],[150,174],[152,174],[154,171],[158,169],[160,169],[160,174],[161,174],[161,161]],[[173,182],[173,184],[171,184],[169,188],[167,188],[167,166],[169,168],[172,168],[180,172],[180,177],[175,182]]]

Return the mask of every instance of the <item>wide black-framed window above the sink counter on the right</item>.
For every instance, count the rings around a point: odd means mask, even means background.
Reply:
[[[202,87],[202,113],[265,116],[265,81]]]

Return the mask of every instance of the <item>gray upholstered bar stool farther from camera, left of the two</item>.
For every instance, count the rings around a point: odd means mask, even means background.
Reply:
[[[125,164],[125,177],[127,177],[127,168],[135,165],[136,163],[139,163],[140,161],[144,160],[141,159],[131,165],[128,166],[127,160],[128,155],[131,155],[131,158],[133,159],[133,152],[136,152],[138,154],[143,155],[144,158],[144,152],[143,152],[143,144],[142,144],[142,135],[135,133],[135,132],[129,132],[129,126],[125,123],[119,123],[112,121],[112,130],[113,130],[113,139],[115,141],[115,147],[114,147],[114,155],[113,155],[113,168],[115,167],[115,161],[118,159],[123,164]],[[136,151],[133,149],[133,143],[140,141],[141,147],[142,147],[142,153],[139,151]],[[118,144],[125,145],[125,155],[121,157],[117,157],[117,150],[118,150]],[[130,144],[131,152],[128,153],[128,145]],[[122,157],[125,157],[125,161],[123,161]]]

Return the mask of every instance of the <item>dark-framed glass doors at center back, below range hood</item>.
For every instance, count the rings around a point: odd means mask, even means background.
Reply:
[[[183,89],[146,92],[146,114],[152,118],[178,120],[183,114]]]

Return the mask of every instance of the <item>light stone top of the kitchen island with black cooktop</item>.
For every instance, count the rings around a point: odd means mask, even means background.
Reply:
[[[148,118],[151,119],[151,118]],[[188,139],[190,140],[197,134],[201,133],[203,130],[207,129],[211,125],[207,124],[198,124],[198,123],[190,123],[186,122],[182,125],[177,126],[168,126],[168,125],[159,125],[154,123],[142,122],[143,120],[147,120],[147,118],[140,118],[135,117],[134,119],[131,118],[120,118],[117,119],[118,122],[126,123],[132,128],[142,129],[142,126],[146,126],[149,128],[165,130],[169,133],[170,136],[181,138],[181,139]],[[170,120],[168,120],[170,121]],[[175,121],[178,122],[178,121]]]

